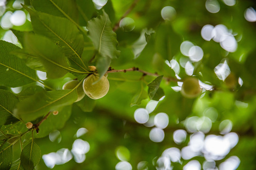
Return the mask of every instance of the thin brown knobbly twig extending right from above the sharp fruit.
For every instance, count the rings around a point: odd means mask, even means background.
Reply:
[[[108,70],[106,73],[116,73],[116,72],[129,72],[129,71],[138,71],[138,72],[141,72],[143,73],[145,76],[148,75],[148,76],[160,76],[159,74],[157,73],[150,73],[150,72],[147,72],[147,71],[144,71],[144,70],[141,70],[139,68],[128,68],[128,69],[119,69],[119,70],[115,70],[115,69],[111,69],[111,70]],[[177,78],[174,78],[174,77],[163,77],[163,79],[165,79],[166,81],[174,81],[174,82],[178,82],[178,81],[182,81],[182,80],[179,80]]]

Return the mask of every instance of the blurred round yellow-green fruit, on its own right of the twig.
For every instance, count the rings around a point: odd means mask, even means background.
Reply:
[[[197,78],[189,77],[183,81],[181,93],[186,98],[195,98],[201,94],[201,87]]]

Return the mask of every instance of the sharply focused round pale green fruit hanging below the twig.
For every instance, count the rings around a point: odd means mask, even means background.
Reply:
[[[99,76],[90,75],[83,81],[83,91],[88,97],[91,99],[100,99],[104,97],[110,89],[110,82],[107,77],[102,76],[101,79],[96,83],[99,79]]]

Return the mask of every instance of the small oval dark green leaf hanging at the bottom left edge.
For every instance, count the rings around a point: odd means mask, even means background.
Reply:
[[[32,139],[32,142],[27,144],[20,153],[20,163],[25,170],[34,170],[40,157],[41,150]]]

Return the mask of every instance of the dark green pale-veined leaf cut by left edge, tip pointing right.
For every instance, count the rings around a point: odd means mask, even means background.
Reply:
[[[0,85],[18,87],[37,80],[36,71],[10,52],[19,48],[9,42],[0,41]]]

